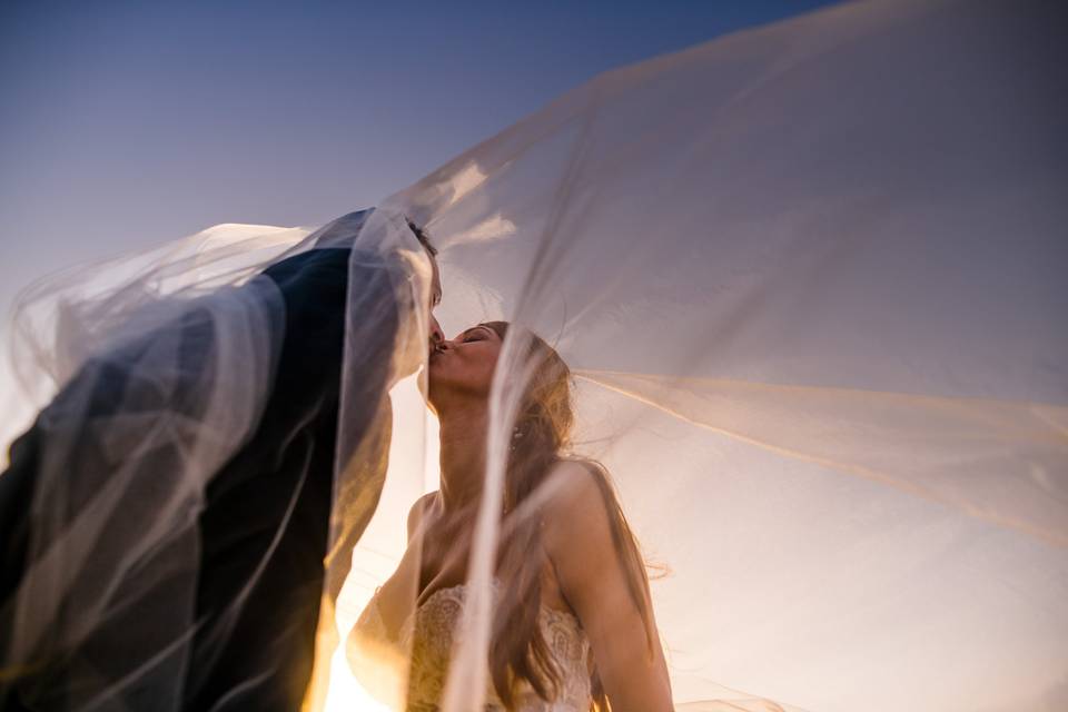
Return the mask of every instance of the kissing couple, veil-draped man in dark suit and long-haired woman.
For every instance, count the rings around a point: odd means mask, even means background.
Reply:
[[[283,243],[201,240],[23,299],[65,327],[0,475],[0,708],[300,709],[382,493],[389,389],[423,368],[439,486],[348,635],[356,676],[413,710],[671,709],[645,564],[607,471],[572,451],[561,356],[505,322],[446,339],[437,250],[404,216]],[[479,551],[492,600],[466,610]],[[465,610],[488,652],[451,675]]]

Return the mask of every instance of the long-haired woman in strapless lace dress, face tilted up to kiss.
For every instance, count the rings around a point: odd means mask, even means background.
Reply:
[[[434,349],[428,395],[441,419],[441,487],[412,507],[407,551],[349,636],[365,685],[380,690],[383,672],[407,675],[409,710],[436,709],[444,692],[482,494],[491,383],[508,328],[479,324]],[[670,710],[637,542],[603,467],[566,455],[567,365],[542,338],[524,336],[532,377],[505,474],[485,709]]]

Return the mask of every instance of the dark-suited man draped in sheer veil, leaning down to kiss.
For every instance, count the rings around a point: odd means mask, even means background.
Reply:
[[[365,210],[318,230],[220,225],[20,295],[11,364],[42,409],[0,481],[0,706],[248,709],[290,656],[310,670],[314,610],[290,634],[296,613],[263,601],[326,561],[313,602],[336,640],[334,550],[377,503],[387,390],[425,358],[429,275],[403,216]],[[283,556],[299,546],[308,561]],[[249,639],[260,625],[279,635]],[[249,640],[288,650],[256,662]]]

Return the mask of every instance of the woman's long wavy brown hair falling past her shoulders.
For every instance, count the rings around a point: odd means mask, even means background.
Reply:
[[[506,322],[487,322],[504,340]],[[574,425],[571,369],[544,339],[530,334],[527,357],[533,375],[526,384],[516,418],[505,474],[504,510],[514,512],[545,483],[554,466],[567,459],[580,463],[593,475],[604,500],[612,542],[625,573],[627,589],[645,626],[650,655],[656,645],[649,576],[634,533],[603,465],[570,456]],[[561,692],[561,671],[545,642],[537,620],[542,597],[541,517],[524,516],[506,530],[498,550],[500,576],[504,583],[502,604],[494,621],[490,649],[490,672],[494,689],[505,706],[512,708],[515,684],[526,681],[540,698],[552,701]],[[609,699],[596,668],[591,675],[593,712],[610,710]]]

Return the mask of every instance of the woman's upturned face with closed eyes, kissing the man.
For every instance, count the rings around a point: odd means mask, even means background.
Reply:
[[[429,400],[435,409],[456,398],[490,396],[501,337],[488,326],[473,326],[431,354]]]

